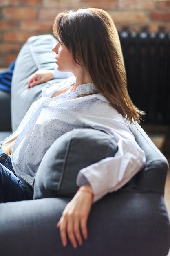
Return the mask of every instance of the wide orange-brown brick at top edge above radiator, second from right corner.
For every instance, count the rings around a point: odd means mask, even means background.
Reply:
[[[153,10],[154,8],[153,0],[119,0],[119,9]]]

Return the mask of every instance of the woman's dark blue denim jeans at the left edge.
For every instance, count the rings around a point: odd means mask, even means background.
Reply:
[[[33,199],[33,188],[15,174],[11,158],[0,147],[0,203]]]

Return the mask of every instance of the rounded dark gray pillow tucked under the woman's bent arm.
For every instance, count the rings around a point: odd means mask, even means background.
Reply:
[[[117,152],[115,137],[100,130],[74,129],[47,150],[34,183],[34,199],[73,196],[79,171]]]

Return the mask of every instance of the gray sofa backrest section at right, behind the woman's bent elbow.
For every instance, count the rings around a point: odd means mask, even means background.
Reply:
[[[129,124],[129,128],[135,136],[137,144],[145,152],[146,166],[142,171],[137,173],[125,187],[142,189],[142,191],[150,190],[163,194],[168,171],[167,159],[139,124]]]

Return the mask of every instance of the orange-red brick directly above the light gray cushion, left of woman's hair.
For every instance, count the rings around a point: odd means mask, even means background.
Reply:
[[[24,20],[21,23],[21,29],[24,31],[33,31],[33,32],[51,32],[52,31],[53,21],[30,21]]]

